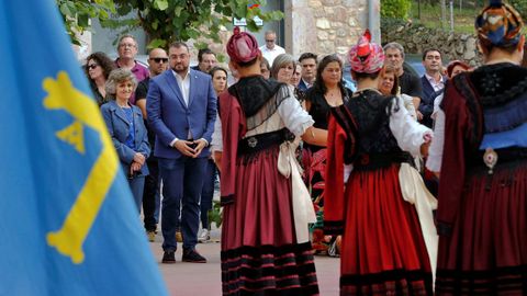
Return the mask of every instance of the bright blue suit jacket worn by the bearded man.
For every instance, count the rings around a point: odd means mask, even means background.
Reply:
[[[178,159],[182,155],[170,147],[175,139],[205,139],[209,144],[216,119],[216,94],[211,76],[190,69],[189,105],[184,103],[178,81],[171,69],[150,80],[146,98],[148,126],[156,134],[154,156]],[[209,157],[210,149],[203,149],[199,157]]]

